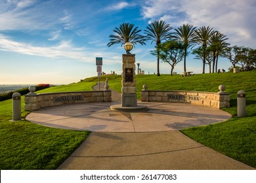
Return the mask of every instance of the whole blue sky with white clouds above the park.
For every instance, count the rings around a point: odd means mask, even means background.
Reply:
[[[135,24],[144,34],[154,20],[173,29],[182,24],[210,26],[231,46],[256,48],[255,0],[0,0],[0,84],[70,84],[96,76],[96,57],[102,71],[121,74],[125,50],[106,46],[114,28]],[[145,74],[156,73],[155,42],[137,44],[131,51]],[[202,73],[202,61],[190,55],[187,71]],[[219,69],[231,66],[220,59]],[[160,73],[171,67],[160,63]],[[207,66],[205,72],[209,72]],[[182,73],[183,62],[175,70]]]

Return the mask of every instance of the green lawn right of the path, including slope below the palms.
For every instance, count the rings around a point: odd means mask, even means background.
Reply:
[[[232,114],[233,118],[226,122],[192,127],[182,130],[182,133],[209,146],[230,158],[256,168],[256,71],[241,73],[211,73],[192,77],[180,75],[139,75],[137,76],[137,97],[143,84],[148,90],[191,90],[203,92],[219,92],[219,85],[226,86],[225,92],[230,93],[229,108],[223,108]],[[121,91],[119,80],[110,80],[109,85]],[[246,93],[246,116],[236,117],[236,96],[239,90]]]

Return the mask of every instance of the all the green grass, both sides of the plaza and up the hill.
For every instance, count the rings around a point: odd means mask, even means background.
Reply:
[[[110,88],[121,92],[121,76],[108,77]],[[137,75],[137,97],[143,84],[148,90],[192,90],[218,92],[221,84],[230,93],[230,108],[223,108],[232,114],[226,122],[203,127],[192,127],[182,133],[209,146],[226,156],[238,159],[247,165],[256,167],[256,71],[241,73],[212,73],[181,77],[180,75]],[[92,90],[98,82],[97,77],[82,82],[56,86],[41,90],[47,92],[79,92]],[[246,116],[236,117],[236,93],[246,93]],[[23,98],[22,98],[23,99]],[[22,118],[24,111],[22,100]],[[0,169],[56,169],[64,159],[83,142],[88,131],[54,129],[32,124],[26,120],[9,122],[12,119],[12,101],[0,102]]]

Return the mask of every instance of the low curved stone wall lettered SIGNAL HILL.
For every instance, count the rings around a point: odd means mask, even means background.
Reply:
[[[33,111],[72,103],[111,102],[111,91],[28,93],[25,95],[25,110]]]

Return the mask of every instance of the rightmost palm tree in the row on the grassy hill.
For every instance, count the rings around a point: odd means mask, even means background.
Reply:
[[[229,45],[228,43],[225,42],[227,39],[228,38],[226,38],[226,35],[223,35],[223,33],[220,33],[219,31],[215,31],[215,33],[213,33],[211,37],[209,37],[209,42],[210,42],[209,47],[211,52],[213,52],[213,73],[214,73],[214,69],[215,69],[215,72],[217,73],[219,53],[223,50],[223,48]],[[215,64],[215,61],[216,61],[216,64]]]

